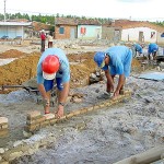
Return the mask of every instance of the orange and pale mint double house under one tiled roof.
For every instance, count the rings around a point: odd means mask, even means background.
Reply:
[[[102,25],[97,20],[56,17],[56,39],[95,39],[102,37]]]

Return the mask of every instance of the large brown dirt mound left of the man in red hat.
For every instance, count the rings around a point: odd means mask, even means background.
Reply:
[[[22,84],[36,75],[36,65],[39,54],[31,54],[0,67],[0,85]]]

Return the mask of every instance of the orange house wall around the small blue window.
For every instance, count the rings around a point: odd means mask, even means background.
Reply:
[[[65,34],[59,34],[59,28],[65,28]],[[72,38],[71,33],[72,28],[74,30],[74,38],[77,38],[77,26],[73,25],[56,25],[55,26],[55,39],[70,39]]]

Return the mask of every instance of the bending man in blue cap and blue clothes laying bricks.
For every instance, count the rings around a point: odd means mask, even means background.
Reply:
[[[132,51],[126,46],[113,46],[106,51],[97,51],[94,61],[105,71],[107,79],[106,91],[114,92],[113,98],[116,98],[124,90],[126,78],[130,75]],[[118,84],[114,90],[114,78],[118,74]]]

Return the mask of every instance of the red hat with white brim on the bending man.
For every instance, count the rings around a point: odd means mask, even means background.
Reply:
[[[42,69],[44,79],[55,79],[56,72],[59,70],[59,58],[55,55],[48,55],[42,62]]]

